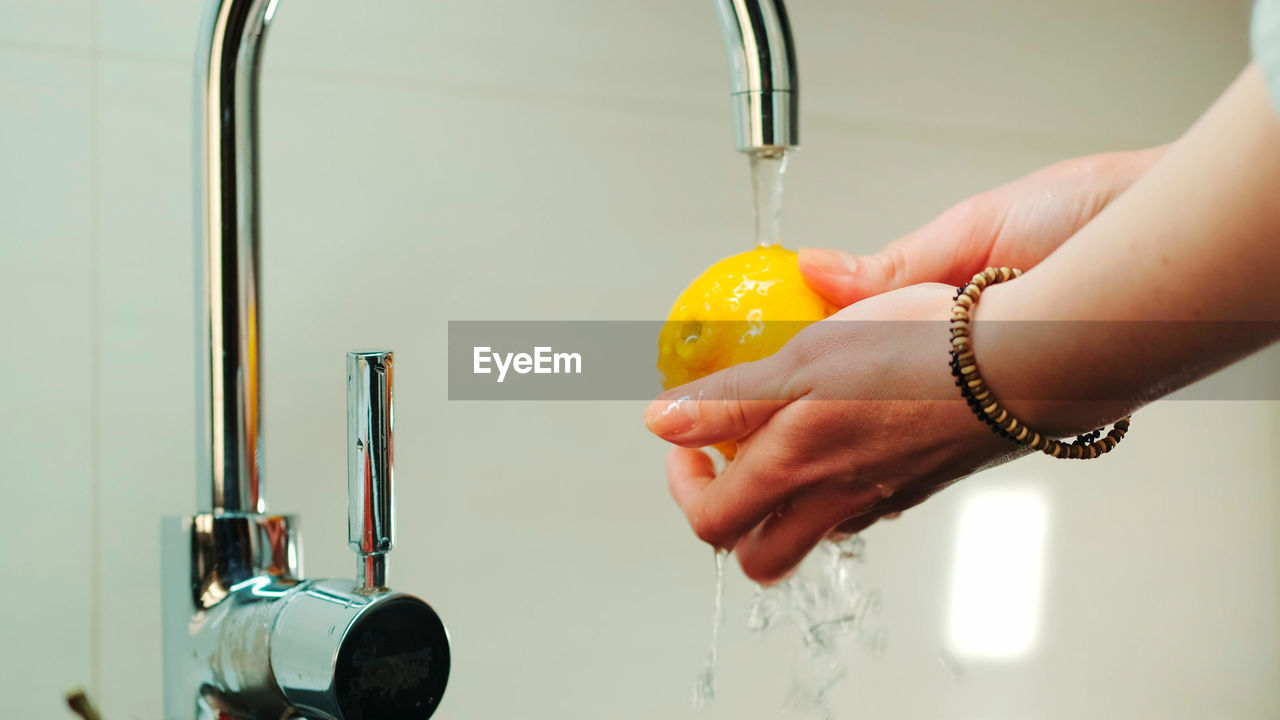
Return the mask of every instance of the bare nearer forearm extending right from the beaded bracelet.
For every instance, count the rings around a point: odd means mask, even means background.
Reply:
[[[1257,68],[1070,241],[989,288],[975,319],[974,348],[996,396],[1033,427],[1064,433],[1274,342],[1280,119]],[[1037,324],[1012,332],[992,320]]]

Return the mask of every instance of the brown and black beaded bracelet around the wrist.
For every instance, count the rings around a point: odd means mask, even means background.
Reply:
[[[969,402],[974,415],[991,425],[996,434],[1032,450],[1039,450],[1053,457],[1078,460],[1092,460],[1110,452],[1129,432],[1129,418],[1117,420],[1105,437],[1102,428],[1098,428],[1065,443],[1033,430],[1010,415],[1000,406],[982,379],[982,374],[978,373],[978,361],[974,359],[973,342],[969,337],[969,320],[973,309],[978,305],[978,299],[987,286],[1002,283],[1021,274],[1021,270],[1010,268],[987,268],[956,290],[955,305],[951,307],[951,374],[956,378],[960,395]]]

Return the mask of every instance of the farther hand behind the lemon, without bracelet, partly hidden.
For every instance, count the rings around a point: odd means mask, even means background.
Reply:
[[[975,195],[876,255],[800,250],[800,270],[841,307],[922,282],[960,284],[988,266],[1029,270],[1142,177],[1167,146],[1066,160]]]

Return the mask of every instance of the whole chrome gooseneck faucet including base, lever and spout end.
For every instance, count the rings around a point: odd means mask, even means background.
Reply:
[[[797,142],[782,0],[714,0],[735,142]],[[305,580],[297,520],[262,474],[259,65],[276,0],[207,0],[196,58],[197,514],[163,527],[165,720],[425,720],[449,676],[435,611],[387,587],[393,356],[347,355],[353,579]]]

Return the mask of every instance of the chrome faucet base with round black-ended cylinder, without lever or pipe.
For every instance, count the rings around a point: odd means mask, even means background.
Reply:
[[[165,720],[430,717],[452,661],[439,615],[353,579],[300,580],[294,528],[165,518]]]

